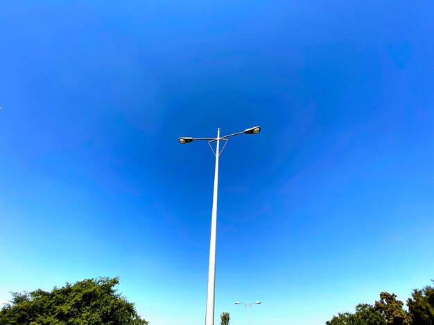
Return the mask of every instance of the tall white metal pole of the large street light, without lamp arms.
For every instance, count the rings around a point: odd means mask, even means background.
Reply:
[[[214,195],[212,200],[211,239],[209,240],[209,269],[207,310],[205,325],[214,325],[214,297],[216,290],[216,232],[217,232],[217,189],[218,189],[218,155],[220,154],[220,128],[217,129],[216,171],[214,173]]]

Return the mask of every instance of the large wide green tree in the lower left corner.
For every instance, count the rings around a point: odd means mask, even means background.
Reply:
[[[8,325],[147,325],[116,290],[119,278],[85,279],[55,287],[51,292],[12,293],[0,310],[0,324]]]

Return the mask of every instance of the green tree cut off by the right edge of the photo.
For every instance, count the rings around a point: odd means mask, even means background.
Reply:
[[[434,325],[434,288],[426,286],[422,290],[415,289],[411,296],[407,306],[413,325]]]

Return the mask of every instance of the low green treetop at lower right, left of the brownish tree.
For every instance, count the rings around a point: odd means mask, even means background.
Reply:
[[[358,304],[356,313],[339,313],[326,322],[327,325],[387,325],[383,314],[370,304]]]

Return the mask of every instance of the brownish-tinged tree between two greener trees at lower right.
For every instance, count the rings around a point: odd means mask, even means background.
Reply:
[[[383,291],[380,293],[380,300],[375,301],[374,308],[385,315],[385,319],[387,319],[388,324],[411,324],[411,319],[408,313],[406,313],[406,310],[403,310],[403,302],[401,300],[397,300],[396,298],[397,295],[394,293],[386,293]]]

